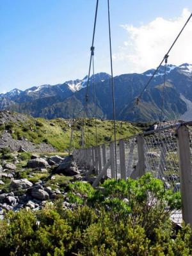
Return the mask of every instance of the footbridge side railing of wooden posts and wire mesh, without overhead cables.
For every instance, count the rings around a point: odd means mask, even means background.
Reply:
[[[106,175],[109,178],[137,179],[146,172],[161,179],[164,188],[181,192],[181,211],[173,212],[172,220],[192,225],[192,122],[170,125],[92,148],[76,150],[76,160],[95,169],[96,187]],[[94,153],[94,154],[93,154]],[[99,154],[99,156],[98,156]],[[88,161],[89,159],[89,161]],[[115,170],[116,160],[116,170]],[[115,173],[116,172],[116,173]]]

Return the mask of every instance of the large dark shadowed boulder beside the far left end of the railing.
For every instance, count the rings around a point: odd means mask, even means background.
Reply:
[[[63,163],[61,163],[54,172],[63,173],[64,175],[68,176],[74,176],[79,174],[79,171],[76,168],[76,163],[74,162],[74,157],[72,155],[65,157]]]

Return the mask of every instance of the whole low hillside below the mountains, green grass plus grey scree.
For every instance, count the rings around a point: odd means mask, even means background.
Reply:
[[[82,127],[82,118],[45,120],[10,111],[0,111],[0,148],[8,147],[12,151],[27,152],[63,152],[70,147],[72,130],[72,148],[81,147]],[[117,138],[127,137],[140,131],[128,122],[117,122],[116,128]],[[97,120],[97,134],[98,143],[113,140],[113,122]],[[84,120],[84,143],[95,145],[93,119]]]

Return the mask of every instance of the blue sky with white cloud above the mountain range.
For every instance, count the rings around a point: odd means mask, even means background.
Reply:
[[[156,67],[192,11],[191,0],[110,2],[115,75]],[[0,0],[0,92],[86,76],[95,3],[95,0]],[[100,0],[95,72],[109,72],[107,14],[107,0]],[[170,56],[173,64],[192,63],[189,25]]]

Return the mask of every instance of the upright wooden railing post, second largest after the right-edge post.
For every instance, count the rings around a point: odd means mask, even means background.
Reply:
[[[138,143],[138,165],[136,170],[138,170],[139,177],[145,174],[145,152],[144,152],[144,138],[141,134],[137,136]]]

